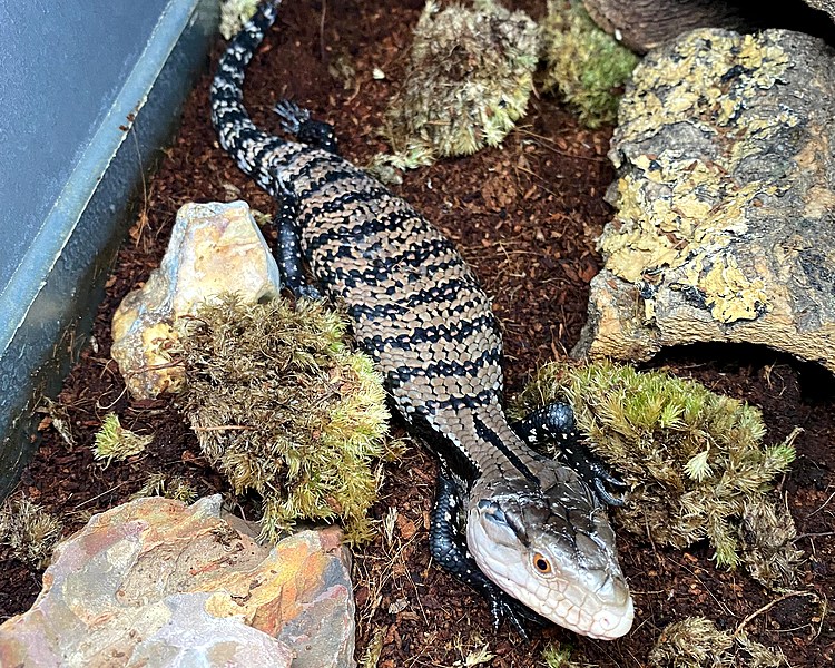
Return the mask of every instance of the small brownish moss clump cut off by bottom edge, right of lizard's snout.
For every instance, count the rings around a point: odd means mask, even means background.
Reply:
[[[704,617],[688,617],[666,627],[649,652],[652,668],[783,668],[779,650],[750,640],[746,633],[720,631]]]

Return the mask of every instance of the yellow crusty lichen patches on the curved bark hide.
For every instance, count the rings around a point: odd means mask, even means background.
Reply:
[[[788,109],[775,115],[748,105],[788,67],[787,53],[765,38],[699,30],[661,63],[656,58],[636,69],[641,95],[623,100],[617,143],[687,124],[709,138],[714,155],[685,155],[671,146],[629,156],[631,169],[617,186],[618,215],[599,244],[607,269],[630,283],[652,276],[656,284],[666,278],[674,288],[688,288],[721,323],[768,308],[763,281],[738,266],[730,246],[748,232],[747,212],[788,187],[779,174],[747,181],[737,174],[765,139],[799,122]],[[675,277],[665,276],[668,271]],[[654,312],[645,305],[648,318]]]

